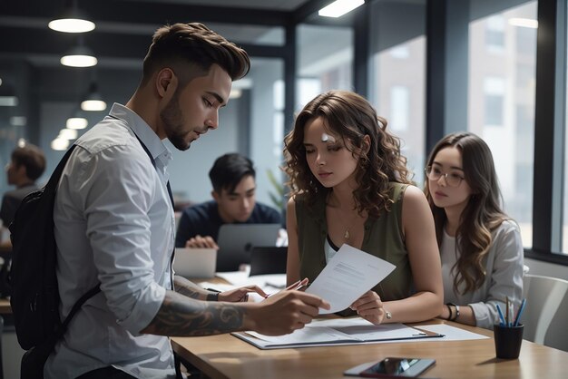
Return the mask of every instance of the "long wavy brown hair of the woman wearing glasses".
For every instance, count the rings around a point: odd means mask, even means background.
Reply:
[[[461,252],[455,266],[452,267],[452,272],[456,274],[454,292],[457,294],[462,284],[465,286],[462,293],[473,291],[483,285],[487,275],[484,258],[493,242],[491,233],[509,218],[501,209],[503,197],[499,189],[493,155],[485,141],[471,132],[448,134],[436,144],[426,167],[432,165],[438,151],[448,147],[455,147],[461,151],[465,182],[473,193],[460,216],[455,234],[456,248]],[[434,214],[436,239],[440,247],[447,220],[446,211],[434,204],[428,180],[426,180],[425,193]]]

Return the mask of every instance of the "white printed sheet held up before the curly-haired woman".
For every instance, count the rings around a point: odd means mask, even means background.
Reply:
[[[331,305],[329,310],[319,309],[320,315],[339,312],[377,286],[395,268],[386,260],[344,244],[306,292],[323,298]]]

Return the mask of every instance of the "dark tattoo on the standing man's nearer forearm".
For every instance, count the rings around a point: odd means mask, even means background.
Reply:
[[[240,330],[243,317],[244,309],[241,306],[194,300],[168,291],[158,314],[142,333],[218,335]]]

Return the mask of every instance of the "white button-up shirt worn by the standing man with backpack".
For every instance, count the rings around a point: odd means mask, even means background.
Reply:
[[[98,282],[102,292],[74,316],[44,375],[74,378],[113,365],[140,378],[175,377],[169,338],[140,334],[171,288],[171,151],[120,104],[75,144],[54,206],[62,320]]]

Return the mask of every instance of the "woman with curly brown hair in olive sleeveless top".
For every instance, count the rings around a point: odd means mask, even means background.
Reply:
[[[387,121],[354,92],[318,95],[285,139],[291,196],[287,281],[313,281],[343,244],[397,268],[342,314],[373,324],[417,322],[443,305],[426,197],[411,185]]]

